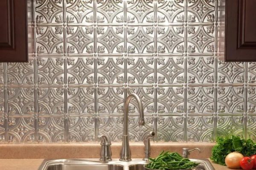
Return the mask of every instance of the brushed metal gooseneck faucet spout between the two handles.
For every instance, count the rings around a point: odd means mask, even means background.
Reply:
[[[123,131],[123,141],[122,141],[122,148],[120,151],[120,161],[131,161],[131,149],[129,146],[129,133],[128,133],[128,112],[129,112],[129,103],[131,98],[134,97],[137,100],[139,105],[139,112],[140,112],[140,120],[139,125],[145,125],[144,122],[144,113],[143,113],[143,106],[140,101],[140,97],[137,94],[130,94],[127,97],[125,102],[124,108],[124,131]]]

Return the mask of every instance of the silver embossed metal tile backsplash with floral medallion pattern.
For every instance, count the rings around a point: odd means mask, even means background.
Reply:
[[[218,60],[218,0],[33,0],[29,63],[0,64],[0,142],[256,139],[256,63]]]

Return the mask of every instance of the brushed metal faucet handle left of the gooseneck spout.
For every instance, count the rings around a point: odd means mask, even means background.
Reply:
[[[100,151],[100,161],[112,161],[112,152],[111,152],[111,142],[108,139],[107,136],[102,135],[102,136],[98,136],[98,139],[101,140],[100,145],[101,147],[101,151]]]

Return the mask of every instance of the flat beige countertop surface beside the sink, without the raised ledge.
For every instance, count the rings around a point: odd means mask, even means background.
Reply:
[[[38,170],[44,159],[0,159],[0,170]],[[212,163],[215,170],[231,170]]]

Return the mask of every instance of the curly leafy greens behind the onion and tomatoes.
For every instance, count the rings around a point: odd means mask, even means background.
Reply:
[[[218,137],[212,148],[212,161],[225,165],[225,158],[231,152],[239,152],[243,156],[256,154],[256,143],[251,139],[241,139],[239,136]]]

